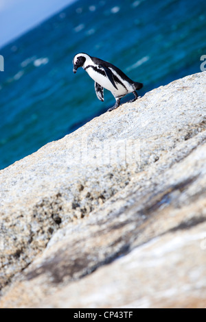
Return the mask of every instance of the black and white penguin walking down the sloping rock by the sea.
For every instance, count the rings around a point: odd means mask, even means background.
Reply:
[[[100,58],[91,57],[87,53],[77,53],[73,58],[73,73],[82,67],[89,76],[95,81],[95,92],[100,99],[104,101],[104,88],[110,90],[116,99],[115,106],[109,108],[108,112],[115,110],[120,105],[120,99],[130,92],[133,92],[135,98],[130,102],[136,101],[138,95],[136,90],[140,90],[143,84],[133,82],[123,71],[109,62]]]

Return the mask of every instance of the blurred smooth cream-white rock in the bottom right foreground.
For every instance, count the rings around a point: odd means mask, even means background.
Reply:
[[[189,234],[172,232],[154,238],[108,267],[71,282],[41,306],[203,308],[206,260],[200,245],[205,229],[203,224],[192,228]]]

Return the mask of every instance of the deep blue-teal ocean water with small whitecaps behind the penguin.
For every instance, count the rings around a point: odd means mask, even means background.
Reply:
[[[201,72],[205,0],[79,0],[0,49],[0,169],[100,115],[115,103],[73,55],[86,52],[143,82],[139,95]],[[130,99],[129,95],[122,101]]]

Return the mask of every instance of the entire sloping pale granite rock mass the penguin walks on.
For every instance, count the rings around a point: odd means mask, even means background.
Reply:
[[[0,171],[1,308],[206,306],[206,72]]]

